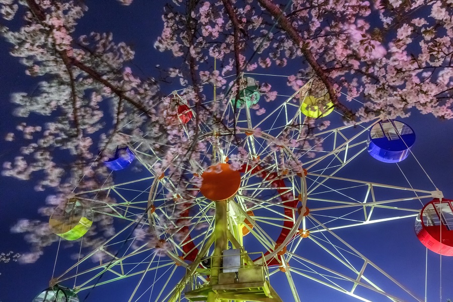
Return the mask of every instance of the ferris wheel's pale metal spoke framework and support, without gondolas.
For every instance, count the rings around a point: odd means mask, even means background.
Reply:
[[[300,282],[363,301],[422,301],[336,230],[397,219],[413,224],[420,200],[441,193],[345,176],[366,153],[369,129],[381,119],[309,135],[297,93],[307,94],[307,88],[274,101],[275,108],[260,116],[230,101],[221,114],[224,127],[201,121],[196,140],[206,143],[206,160],[175,154],[170,165],[191,171],[177,180],[155,145],[131,144],[142,168],[136,179],[74,196],[95,214],[112,216],[117,232],[52,282],[77,278],[74,288],[82,291],[125,279],[134,285],[129,301],[277,302],[289,289],[299,302]],[[212,201],[199,193],[195,180],[206,166],[233,161],[241,173],[233,197]],[[228,275],[233,281],[220,275],[227,274],[219,258],[228,249],[240,255],[239,273]],[[206,259],[208,267],[202,265]],[[247,269],[256,269],[262,280],[242,282]]]

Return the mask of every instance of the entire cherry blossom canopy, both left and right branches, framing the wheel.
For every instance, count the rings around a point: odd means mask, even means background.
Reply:
[[[11,55],[20,58],[27,75],[41,79],[33,94],[13,95],[14,114],[24,122],[6,140],[20,136],[29,143],[14,162],[3,164],[3,175],[27,180],[39,173],[36,190],[55,192],[40,210],[44,215],[67,200],[75,186],[90,189],[112,182],[103,160],[116,146],[144,134],[149,142],[166,146],[160,149],[164,163],[175,152],[186,155],[182,160],[199,158],[197,151],[205,146],[183,138],[173,116],[175,97],[161,96],[159,81],[133,73],[134,52],[128,45],[114,43],[111,33],[75,36],[88,9],[83,2],[0,4],[0,33],[13,45]],[[187,130],[192,137],[198,135],[199,120],[221,127],[217,112],[226,103],[206,105],[211,96],[201,84],[218,87],[220,100],[238,98],[235,84],[242,72],[274,67],[293,72],[287,85],[294,91],[305,84],[301,78],[312,79],[317,83],[313,93],[327,94],[347,123],[380,114],[407,116],[412,108],[453,118],[451,0],[172,0],[162,5],[163,30],[155,47],[171,52],[176,63],[159,68],[184,88],[181,96],[196,113],[197,123]],[[231,74],[235,80],[223,78]],[[269,83],[261,83],[260,91],[266,101],[276,97]],[[357,107],[352,98],[363,105]],[[263,114],[265,102],[253,109]],[[33,114],[46,116],[47,122],[31,125],[27,117]],[[310,129],[326,126],[309,123]],[[172,175],[180,177],[181,171]],[[101,231],[112,231],[108,221],[101,225]],[[57,240],[39,221],[21,220],[13,231],[30,232],[28,240],[35,246],[21,258],[25,262],[35,261],[43,247]]]

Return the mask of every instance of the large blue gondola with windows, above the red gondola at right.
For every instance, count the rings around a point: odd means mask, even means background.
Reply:
[[[400,162],[408,157],[414,142],[411,127],[398,120],[382,120],[369,131],[368,153],[382,162]]]

